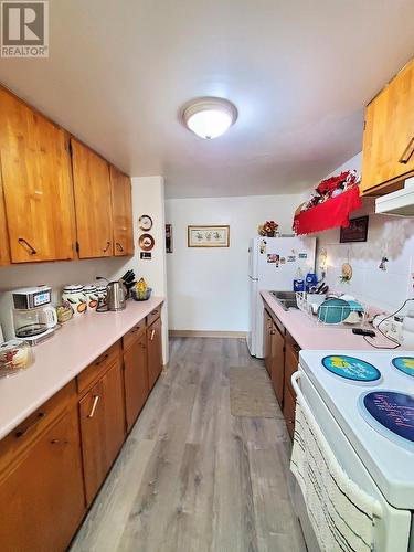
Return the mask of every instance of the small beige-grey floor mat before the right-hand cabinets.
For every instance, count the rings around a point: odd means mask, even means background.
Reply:
[[[230,368],[230,411],[233,416],[283,417],[266,370]]]

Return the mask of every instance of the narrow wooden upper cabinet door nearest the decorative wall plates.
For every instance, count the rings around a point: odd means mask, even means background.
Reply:
[[[130,178],[110,166],[114,255],[134,254],[132,193]]]

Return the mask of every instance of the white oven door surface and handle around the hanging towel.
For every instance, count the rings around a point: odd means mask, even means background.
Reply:
[[[381,505],[382,517],[378,519],[374,530],[374,550],[378,552],[414,552],[414,543],[410,542],[412,512],[397,510],[386,502],[318,391],[300,369],[300,365],[299,372],[293,375],[293,383],[297,391],[297,401],[304,402],[305,406],[309,407],[348,477]],[[302,518],[304,512],[306,512],[306,509],[299,508],[297,513]],[[304,527],[310,523],[308,519],[301,519],[301,522]]]

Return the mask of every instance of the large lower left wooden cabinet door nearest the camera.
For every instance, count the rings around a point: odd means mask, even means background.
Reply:
[[[72,407],[0,484],[1,550],[64,551],[84,511],[78,420]]]

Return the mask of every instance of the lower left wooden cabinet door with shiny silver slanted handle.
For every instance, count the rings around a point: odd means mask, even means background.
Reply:
[[[86,503],[105,479],[125,435],[120,365],[114,364],[79,402]]]

